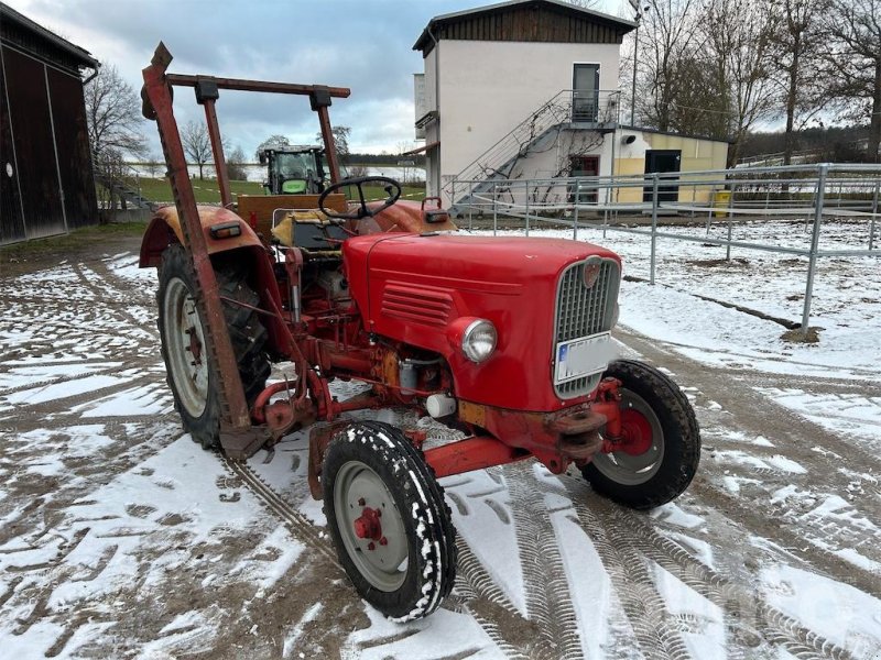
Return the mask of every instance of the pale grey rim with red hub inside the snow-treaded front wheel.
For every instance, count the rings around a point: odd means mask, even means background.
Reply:
[[[334,509],[342,544],[358,571],[383,592],[406,579],[409,543],[404,522],[380,476],[359,461],[337,472]]]

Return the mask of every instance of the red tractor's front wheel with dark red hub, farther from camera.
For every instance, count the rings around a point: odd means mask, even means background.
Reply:
[[[627,451],[596,454],[581,474],[597,493],[635,509],[675,499],[700,462],[692,405],[673,381],[642,362],[612,362],[603,377],[621,381],[623,435],[631,442]]]

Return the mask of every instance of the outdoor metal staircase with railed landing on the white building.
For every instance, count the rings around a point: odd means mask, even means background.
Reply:
[[[444,186],[452,210],[474,204],[493,182],[512,178],[515,165],[556,141],[562,130],[611,131],[618,125],[620,92],[564,89],[475,158]]]

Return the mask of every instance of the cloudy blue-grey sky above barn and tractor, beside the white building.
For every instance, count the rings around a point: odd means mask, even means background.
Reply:
[[[492,0],[3,0],[14,10],[116,65],[140,90],[141,69],[160,40],[174,55],[170,70],[233,78],[350,87],[335,99],[334,124],[351,128],[352,151],[415,146],[413,44],[432,16]],[[618,14],[627,0],[597,9]],[[220,129],[231,146],[253,154],[274,133],[314,142],[315,113],[305,97],[224,91]],[[193,91],[175,96],[178,122],[204,118]],[[159,153],[153,124],[144,131]]]

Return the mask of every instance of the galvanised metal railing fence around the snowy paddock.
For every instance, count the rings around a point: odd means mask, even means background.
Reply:
[[[677,240],[731,249],[776,252],[808,260],[801,330],[807,334],[817,260],[824,257],[881,256],[878,250],[881,166],[818,164],[786,167],[737,168],[688,173],[653,173],[617,177],[534,178],[493,180],[489,189],[475,191],[475,180],[457,180],[468,190],[467,204],[457,205],[459,223],[483,227],[491,218],[493,233],[500,219],[513,220],[526,235],[540,224],[591,227],[645,235],[651,241],[649,282],[655,283],[657,241]],[[483,186],[486,188],[486,184]],[[706,235],[688,235],[672,227],[670,219],[703,219]],[[804,219],[809,241],[804,246],[770,244],[733,239],[735,223],[774,219]],[[822,249],[824,219],[848,219],[868,226],[866,248]],[[640,227],[622,224],[637,223]],[[724,223],[726,237],[710,235]]]

